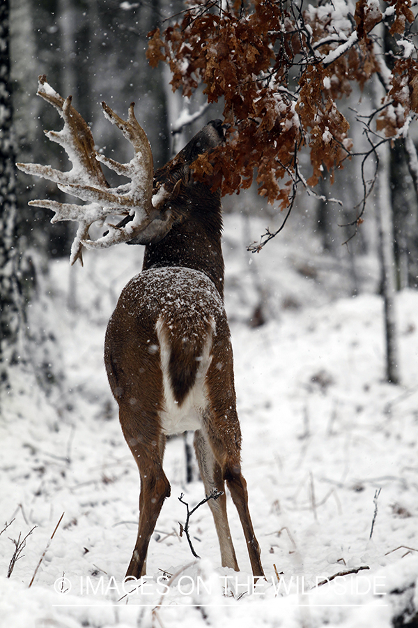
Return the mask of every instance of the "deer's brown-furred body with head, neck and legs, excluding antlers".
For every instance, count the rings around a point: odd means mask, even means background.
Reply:
[[[138,536],[127,569],[127,576],[136,578],[145,574],[150,537],[170,494],[162,468],[165,433],[176,430],[176,421],[183,421],[187,412],[187,420],[197,421],[195,450],[206,493],[224,491],[226,481],[252,571],[263,576],[240,468],[241,431],[223,305],[220,196],[195,183],[189,170],[199,152],[220,142],[222,127],[215,121],[155,173],[155,187],[164,184],[175,193],[162,211],[163,228],[152,227],[135,238],[134,244],[146,244],[143,271],[124,288],[107,327],[109,383],[141,477]],[[238,570],[225,495],[208,504],[222,565]]]

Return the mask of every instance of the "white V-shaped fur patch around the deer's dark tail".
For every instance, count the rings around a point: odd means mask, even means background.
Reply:
[[[171,386],[169,361],[170,361],[170,336],[163,315],[157,320],[155,330],[160,343],[160,363],[162,370],[162,382],[164,387],[164,410],[160,413],[162,432],[164,434],[180,434],[186,430],[199,430],[202,426],[202,415],[208,405],[208,391],[206,386],[206,373],[212,361],[212,338],[215,333],[215,320],[209,319],[210,331],[203,345],[203,351],[199,356],[199,367],[192,388],[187,393],[181,405],[176,401]]]

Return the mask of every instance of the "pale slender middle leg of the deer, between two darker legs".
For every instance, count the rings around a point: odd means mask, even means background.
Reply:
[[[217,500],[208,501],[219,539],[222,567],[231,567],[231,569],[239,571],[226,515],[225,483],[222,479],[222,469],[215,460],[206,435],[201,430],[194,433],[194,449],[206,495],[210,495],[214,489],[223,493]]]

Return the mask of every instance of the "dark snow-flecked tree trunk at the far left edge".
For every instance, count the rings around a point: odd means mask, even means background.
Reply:
[[[0,3],[0,387],[17,360],[20,329],[19,251],[15,193],[15,150],[10,86],[9,0]]]

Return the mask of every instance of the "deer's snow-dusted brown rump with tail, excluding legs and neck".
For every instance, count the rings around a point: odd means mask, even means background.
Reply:
[[[121,418],[128,442],[199,430],[211,414],[228,416],[235,405],[225,398],[233,390],[226,313],[200,271],[163,267],[132,278],[109,321],[104,361],[116,401],[127,401],[135,417],[134,430],[132,415],[128,425]]]

